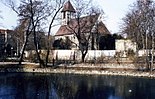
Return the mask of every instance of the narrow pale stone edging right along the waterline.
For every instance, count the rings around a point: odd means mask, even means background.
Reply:
[[[0,72],[29,72],[29,73],[69,73],[69,74],[85,74],[85,75],[119,75],[119,76],[135,76],[135,77],[155,77],[155,73],[140,71],[119,71],[119,70],[77,70],[77,69],[50,69],[50,68],[24,68],[24,69],[1,69]]]

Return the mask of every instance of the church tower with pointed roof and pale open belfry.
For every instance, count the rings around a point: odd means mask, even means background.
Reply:
[[[67,25],[67,23],[73,18],[73,14],[75,13],[75,9],[72,6],[70,0],[68,0],[61,11],[62,13],[62,25]]]

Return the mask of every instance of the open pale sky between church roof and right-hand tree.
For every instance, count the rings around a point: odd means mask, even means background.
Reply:
[[[136,0],[94,0],[105,12],[104,23],[111,33],[119,32],[122,18],[125,17],[131,5]]]

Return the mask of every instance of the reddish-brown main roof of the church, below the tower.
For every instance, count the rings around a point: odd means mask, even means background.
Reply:
[[[98,17],[99,17],[99,14],[82,17],[79,20],[71,19],[68,25],[60,26],[55,36],[71,35],[71,34],[74,34],[75,32],[77,33],[78,28],[80,28],[79,30],[81,31],[81,33],[88,33],[92,31],[92,28],[97,22]],[[98,32],[101,34],[110,34],[110,32],[108,31],[106,26],[103,24],[103,22],[99,22],[97,28],[98,28],[97,29]]]

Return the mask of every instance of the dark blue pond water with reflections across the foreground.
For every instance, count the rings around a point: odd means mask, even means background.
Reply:
[[[0,73],[0,99],[155,99],[155,79]]]

